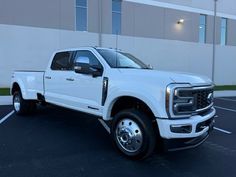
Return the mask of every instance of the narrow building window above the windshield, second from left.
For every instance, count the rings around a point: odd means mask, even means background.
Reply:
[[[112,0],[112,34],[121,34],[121,0]]]

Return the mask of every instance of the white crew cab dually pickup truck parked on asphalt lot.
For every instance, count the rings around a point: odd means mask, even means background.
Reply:
[[[96,115],[119,151],[145,158],[157,146],[196,147],[214,124],[213,83],[203,76],[150,69],[115,49],[57,51],[46,71],[15,71],[13,106],[19,115],[38,103]]]

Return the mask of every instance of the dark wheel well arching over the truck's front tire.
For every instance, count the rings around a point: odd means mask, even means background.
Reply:
[[[144,103],[142,100],[138,98],[130,97],[130,96],[120,97],[116,100],[116,102],[114,103],[111,109],[111,117],[114,117],[121,110],[131,109],[131,108],[136,108],[138,110],[141,110],[150,119],[155,120],[155,116],[152,110],[147,106],[146,103]]]

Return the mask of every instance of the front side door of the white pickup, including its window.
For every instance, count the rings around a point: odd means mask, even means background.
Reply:
[[[100,68],[100,75],[94,75],[92,72],[85,70],[78,71],[77,73],[73,72],[71,77],[74,81],[71,82],[71,87],[73,87],[74,91],[70,94],[74,97],[74,103],[76,106],[78,106],[82,111],[102,115],[102,64],[90,50],[76,51],[74,57],[74,68],[76,67],[75,64],[81,66],[87,65],[88,69]]]

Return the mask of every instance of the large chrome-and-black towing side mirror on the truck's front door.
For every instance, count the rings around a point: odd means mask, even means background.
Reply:
[[[88,57],[78,57],[74,63],[76,73],[88,74],[93,77],[102,76],[103,69],[101,66],[90,66]]]

